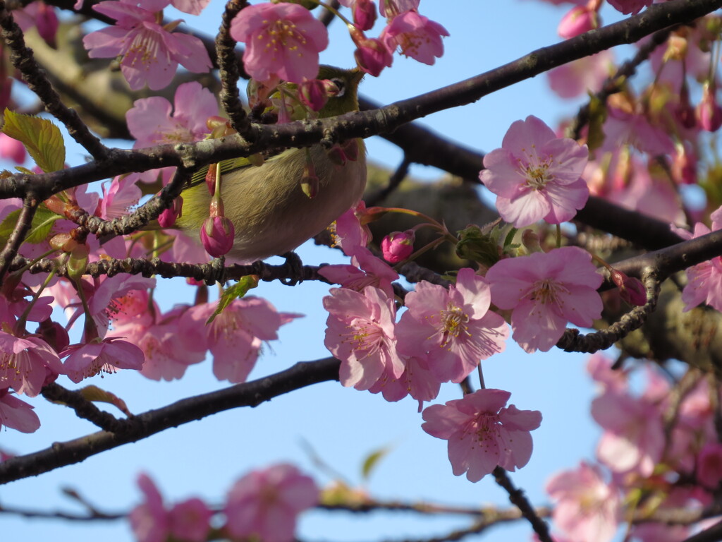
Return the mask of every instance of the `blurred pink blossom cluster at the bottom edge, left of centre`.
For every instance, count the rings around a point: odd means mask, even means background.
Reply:
[[[295,540],[297,517],[318,504],[313,478],[288,463],[253,470],[233,483],[222,514],[197,497],[168,507],[160,491],[147,476],[138,477],[144,502],[130,514],[131,528],[138,542],[204,542],[212,532],[212,520],[222,516],[219,531],[230,541]]]

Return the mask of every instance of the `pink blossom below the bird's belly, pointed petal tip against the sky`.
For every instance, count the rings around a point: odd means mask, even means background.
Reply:
[[[210,324],[218,302],[192,306],[181,317],[178,330],[183,348],[210,350],[213,374],[219,380],[245,382],[256,366],[263,341],[278,339],[278,330],[298,314],[279,313],[263,298],[235,299]]]

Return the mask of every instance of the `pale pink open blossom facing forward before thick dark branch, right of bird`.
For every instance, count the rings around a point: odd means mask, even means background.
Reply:
[[[516,228],[542,218],[550,224],[571,220],[586,204],[589,189],[581,178],[588,159],[586,145],[557,138],[535,116],[514,122],[502,147],[484,156],[479,173],[497,194],[501,218]]]

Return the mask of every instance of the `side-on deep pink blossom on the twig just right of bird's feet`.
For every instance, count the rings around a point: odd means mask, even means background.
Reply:
[[[357,292],[366,286],[380,288],[389,298],[393,298],[393,283],[399,273],[391,269],[383,259],[375,257],[365,246],[359,246],[349,264],[324,265],[318,274],[333,283]]]

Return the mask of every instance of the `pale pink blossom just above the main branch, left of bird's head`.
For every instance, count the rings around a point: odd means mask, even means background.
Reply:
[[[139,148],[200,141],[210,132],[206,120],[217,114],[214,95],[193,81],[178,85],[173,106],[161,96],[136,100],[126,113],[126,121],[136,138],[134,148]]]

